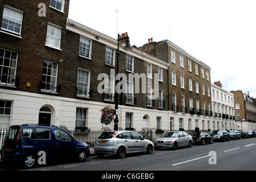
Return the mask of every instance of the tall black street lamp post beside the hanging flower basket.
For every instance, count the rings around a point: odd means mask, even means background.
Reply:
[[[120,38],[120,35],[118,34],[118,37],[117,37],[117,65],[116,65],[116,73],[115,73],[115,76],[119,73],[119,55],[120,55],[120,51],[119,51],[119,40],[121,40],[123,38]],[[126,51],[126,52],[129,52],[131,51],[131,49],[133,49],[133,47],[131,47],[130,45],[130,38],[128,35],[126,35],[126,46],[123,47],[123,49]],[[115,79],[115,85],[117,85],[118,82],[117,80]],[[114,118],[114,131],[117,131],[118,130],[118,122],[119,122],[119,119],[118,119],[118,115],[117,115],[117,110],[118,110],[118,93],[117,93],[117,90],[115,89],[115,118]]]

